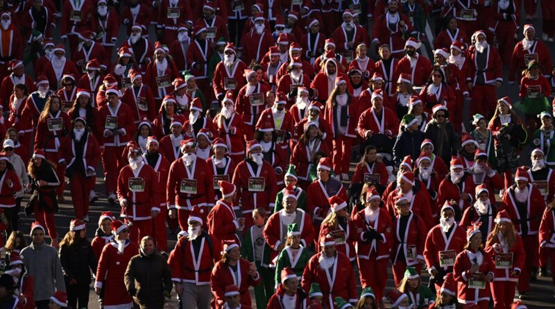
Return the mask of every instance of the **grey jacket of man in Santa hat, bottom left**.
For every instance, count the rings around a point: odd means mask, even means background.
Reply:
[[[56,248],[44,242],[38,246],[31,243],[21,256],[28,274],[33,276],[35,301],[50,299],[56,291],[65,292],[64,272]]]

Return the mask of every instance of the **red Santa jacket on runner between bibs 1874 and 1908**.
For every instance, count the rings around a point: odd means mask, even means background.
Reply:
[[[183,158],[173,161],[169,168],[167,199],[168,208],[191,210],[193,206],[214,206],[214,180],[206,161],[195,158],[189,167]]]

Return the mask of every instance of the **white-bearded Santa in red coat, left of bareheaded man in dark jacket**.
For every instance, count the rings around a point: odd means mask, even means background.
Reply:
[[[133,308],[133,298],[126,290],[123,275],[131,258],[139,253],[139,246],[129,240],[127,224],[116,220],[110,226],[114,239],[102,249],[99,268],[96,269],[94,292],[97,295],[103,294],[102,304],[105,308]]]

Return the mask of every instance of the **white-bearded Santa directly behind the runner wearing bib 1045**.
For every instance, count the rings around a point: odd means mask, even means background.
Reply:
[[[455,201],[459,209],[456,210],[457,219],[461,213],[472,205],[475,183],[472,177],[464,170],[463,160],[453,157],[450,164],[450,174],[441,181],[438,187],[438,199],[436,207],[432,211],[438,214],[445,201]]]

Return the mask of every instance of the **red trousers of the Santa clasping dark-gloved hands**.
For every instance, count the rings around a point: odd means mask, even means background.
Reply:
[[[362,288],[372,287],[376,299],[382,299],[387,282],[388,258],[375,259],[375,254],[370,260],[357,258],[359,263],[359,277]]]

